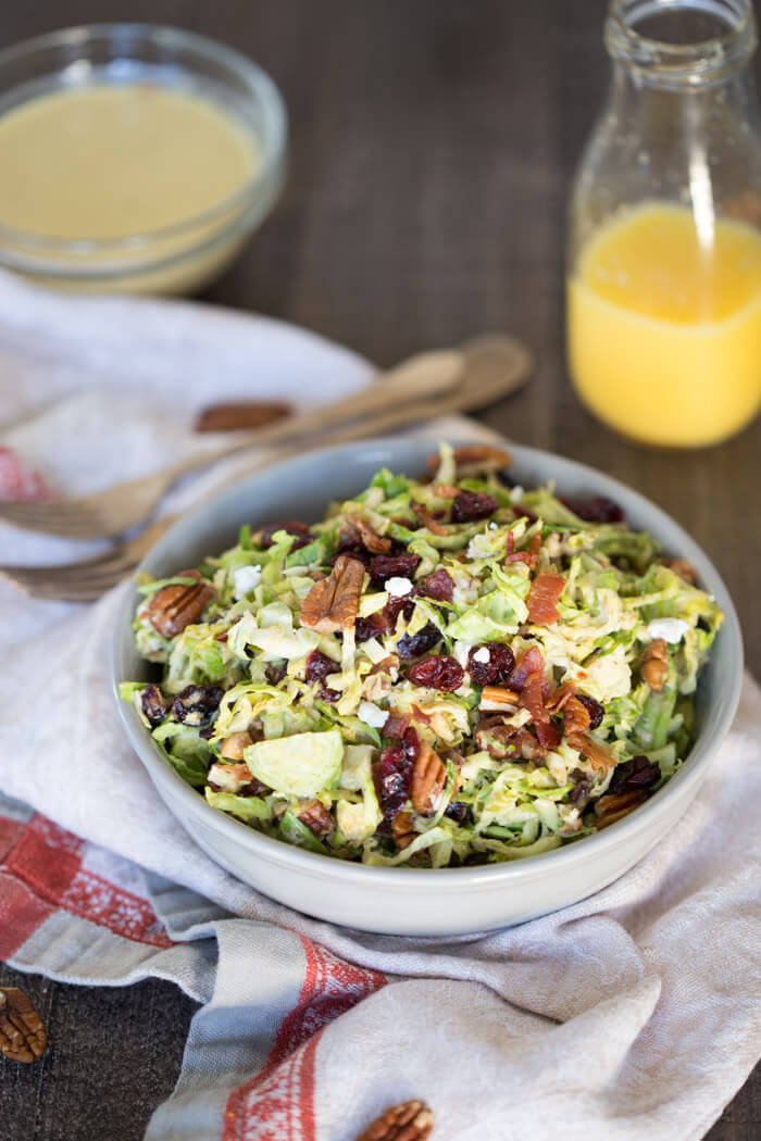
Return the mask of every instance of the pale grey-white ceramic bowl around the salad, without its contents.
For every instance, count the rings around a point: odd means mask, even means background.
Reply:
[[[465,440],[453,440],[465,443]],[[193,840],[240,880],[318,919],[366,931],[446,936],[520,923],[576,903],[612,883],[641,859],[686,811],[731,723],[743,677],[737,616],[718,572],[695,542],[637,492],[583,464],[508,445],[512,474],[531,486],[554,479],[567,494],[607,495],[630,524],[649,531],[673,556],[688,559],[726,618],[697,691],[697,738],[682,768],[635,812],[605,832],[541,856],[462,868],[383,868],[349,864],[293,848],[211,809],[163,758],[137,712],[120,715],[159,794]],[[332,499],[345,499],[388,467],[423,470],[430,442],[389,438],[286,460],[219,492],[180,519],[144,559],[140,570],[161,577],[204,555],[233,545],[243,523],[322,518]],[[114,638],[113,682],[149,678],[130,623],[137,594],[128,592]]]

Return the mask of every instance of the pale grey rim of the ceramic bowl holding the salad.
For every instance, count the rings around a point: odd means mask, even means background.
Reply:
[[[455,446],[483,443],[483,437],[480,439],[473,439],[472,435],[468,436],[465,432],[451,432],[447,434],[447,438]],[[195,504],[189,511],[185,512],[185,515],[177,520],[177,523],[175,523],[164,533],[164,535],[161,536],[151,551],[146,553],[140,561],[140,565],[136,568],[132,577],[129,580],[129,583],[131,583],[133,588],[135,576],[144,569],[145,564],[151,560],[155,551],[160,551],[164,543],[171,542],[175,532],[179,529],[180,526],[192,525],[193,523],[202,523],[208,517],[208,512],[214,502],[221,497],[235,494],[235,491],[240,486],[270,479],[276,480],[277,475],[284,468],[298,468],[299,466],[305,464],[308,467],[310,463],[319,460],[324,461],[331,459],[335,464],[340,466],[341,460],[345,456],[349,459],[353,454],[356,454],[358,448],[367,446],[380,450],[394,448],[398,446],[399,440],[400,437],[384,436],[334,447],[327,446],[311,451],[305,455],[286,458],[268,466],[261,471],[251,472],[248,476],[242,476],[241,478],[235,479],[224,487],[218,488],[218,491],[213,492],[207,499]],[[718,712],[714,713],[710,722],[703,727],[703,730],[696,738],[693,748],[685,760],[685,763],[674,774],[674,776],[661,790],[658,790],[654,796],[646,801],[645,804],[640,806],[635,812],[632,812],[622,820],[616,822],[609,828],[606,828],[602,832],[593,833],[590,836],[584,836],[583,840],[580,840],[577,843],[562,844],[551,851],[541,852],[526,858],[517,858],[515,860],[472,865],[467,867],[379,867],[374,865],[342,860],[334,856],[323,856],[319,852],[310,852],[308,850],[293,847],[282,840],[257,832],[242,822],[211,808],[211,806],[205,802],[199,792],[187,785],[179,774],[175,771],[169,761],[161,755],[159,747],[152,742],[133,706],[119,697],[119,682],[123,680],[120,678],[122,638],[126,632],[129,632],[129,637],[131,637],[131,622],[136,604],[135,590],[128,590],[127,584],[124,584],[124,596],[119,608],[119,617],[111,648],[112,694],[116,702],[119,715],[127,730],[128,737],[132,743],[140,761],[147,769],[148,775],[154,780],[157,790],[160,790],[162,784],[169,783],[172,787],[172,792],[179,796],[184,811],[186,811],[188,816],[200,818],[201,820],[208,823],[212,831],[221,832],[226,839],[241,844],[241,847],[246,850],[249,856],[261,858],[265,863],[276,864],[281,867],[310,876],[332,876],[338,881],[351,883],[354,885],[365,883],[369,888],[374,885],[378,888],[396,888],[398,890],[413,892],[427,891],[429,893],[431,891],[440,893],[450,890],[461,890],[465,885],[473,889],[507,889],[513,881],[520,880],[521,882],[525,882],[526,880],[542,879],[544,875],[552,874],[553,872],[559,875],[561,872],[568,872],[574,867],[589,863],[590,860],[602,858],[606,852],[610,851],[610,849],[615,848],[620,842],[634,840],[640,833],[648,831],[650,825],[669,816],[679,798],[682,798],[686,801],[691,799],[691,795],[697,792],[698,787],[703,783],[703,779],[705,778],[706,769],[712,756],[729,731],[739,704],[743,685],[744,661],[740,626],[731,597],[721,575],[713,566],[713,563],[709,559],[707,555],[680,526],[680,524],[672,519],[671,516],[669,516],[662,508],[657,507],[657,504],[640,494],[640,492],[634,491],[632,487],[629,487],[621,480],[615,479],[613,476],[608,476],[605,472],[601,472],[598,469],[577,460],[570,460],[566,456],[558,455],[557,453],[518,444],[502,436],[500,436],[496,442],[505,444],[508,448],[512,448],[518,464],[520,464],[524,458],[528,461],[535,461],[537,464],[544,464],[547,461],[551,461],[553,463],[561,461],[562,464],[568,466],[568,468],[575,470],[578,475],[582,475],[585,478],[601,480],[605,484],[605,487],[600,488],[604,493],[609,491],[613,494],[617,493],[620,497],[623,497],[624,500],[629,500],[626,509],[628,513],[633,507],[634,510],[643,511],[646,515],[649,515],[656,524],[656,529],[658,529],[657,525],[661,523],[667,525],[667,527],[672,529],[674,539],[680,544],[679,553],[682,557],[688,558],[690,563],[697,566],[699,577],[703,581],[705,589],[711,592],[722,609],[724,621],[719,632],[719,637],[722,637],[729,644],[732,667],[726,677],[722,675],[721,678],[720,683],[722,687],[722,694],[720,695],[720,707]],[[431,439],[410,437],[406,443],[411,445],[418,444],[421,447],[426,445],[429,450],[435,448],[435,442]],[[650,529],[650,524],[647,525],[647,529]],[[187,827],[184,817],[177,816],[172,806],[169,806],[169,808],[172,815],[179,819],[179,823],[183,824],[185,830],[188,832],[191,839],[197,843],[193,833]],[[232,874],[236,873],[233,872]]]

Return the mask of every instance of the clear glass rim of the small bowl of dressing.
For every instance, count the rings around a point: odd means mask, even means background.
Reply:
[[[236,209],[240,207],[243,210],[246,204],[256,200],[259,188],[267,186],[283,164],[288,144],[289,119],[280,88],[259,64],[254,63],[253,59],[250,59],[242,51],[237,51],[227,43],[197,32],[172,27],[168,24],[131,21],[79,24],[71,27],[63,27],[54,32],[46,32],[42,35],[19,40],[17,43],[13,43],[0,50],[0,76],[7,64],[17,63],[37,51],[72,47],[86,49],[88,44],[96,41],[110,42],[124,38],[132,46],[130,58],[140,59],[141,56],[136,50],[137,46],[140,42],[149,42],[169,49],[191,49],[199,56],[211,59],[226,67],[229,72],[233,72],[245,84],[248,98],[256,100],[265,110],[265,129],[262,130],[260,140],[261,154],[259,164],[237,189],[200,213],[195,213],[191,218],[185,218],[178,222],[171,222],[167,226],[159,226],[155,229],[143,230],[136,234],[128,234],[122,237],[55,237],[54,235],[35,234],[31,230],[0,225],[0,250],[3,254],[13,252],[17,256],[17,251],[14,250],[14,243],[23,249],[35,251],[38,256],[49,252],[59,257],[67,254],[76,258],[82,254],[102,251],[113,253],[132,252],[139,249],[149,249],[152,244],[167,238],[181,237],[184,233],[192,232],[210,222],[213,224],[217,218],[222,218],[227,215],[233,215],[232,222],[235,224],[238,220]],[[67,66],[70,64],[71,62]],[[191,67],[186,67],[185,70],[189,74],[193,74]],[[51,72],[50,74],[54,73]],[[133,80],[129,80],[123,86],[130,86],[133,82]],[[64,90],[83,90],[92,86],[90,80],[86,80],[84,82],[72,83]],[[29,100],[24,100],[24,103],[26,102]],[[24,103],[18,104],[18,106],[23,106]],[[213,235],[214,238],[219,236],[219,234]],[[186,252],[186,250],[183,250],[177,256],[184,257]],[[55,265],[50,266],[49,269],[46,267],[44,270],[38,266],[26,268],[27,272],[31,272],[32,268],[37,272],[55,272]],[[59,267],[62,276],[71,275],[74,268],[76,268],[76,262]],[[131,264],[127,266],[127,269],[132,272]],[[144,272],[144,266],[141,264],[136,265],[135,269]],[[114,272],[123,273],[124,269],[122,267],[121,270],[104,270],[100,267],[99,269],[90,270],[89,267],[81,266],[79,267],[79,272],[83,276],[89,277],[108,276]]]

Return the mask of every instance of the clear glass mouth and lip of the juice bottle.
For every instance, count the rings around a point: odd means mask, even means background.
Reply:
[[[612,0],[605,42],[615,73],[635,87],[722,87],[756,47],[751,0]]]

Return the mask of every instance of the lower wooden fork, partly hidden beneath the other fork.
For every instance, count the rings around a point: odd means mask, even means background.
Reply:
[[[507,351],[505,340],[479,338],[469,342],[465,348],[465,366],[459,383],[442,396],[435,407],[431,407],[430,402],[400,405],[373,418],[370,422],[355,423],[333,431],[321,443],[332,445],[364,439],[428,420],[431,414],[447,415],[485,407],[510,395],[521,387],[531,374],[533,357],[528,349],[518,342],[513,342]],[[252,464],[249,470],[257,470],[276,459],[285,459],[303,451],[305,448],[299,446],[283,448]],[[240,474],[234,478],[238,479]],[[219,488],[216,488],[211,494],[217,494]],[[129,574],[175,518],[168,516],[159,519],[136,539],[119,543],[95,558],[52,567],[0,566],[0,577],[34,598],[91,601]]]

